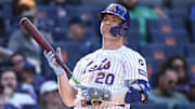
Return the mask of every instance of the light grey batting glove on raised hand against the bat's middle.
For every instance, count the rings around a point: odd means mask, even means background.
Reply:
[[[56,58],[55,55],[52,51],[43,52],[50,67],[54,70],[55,74],[58,76],[63,76],[65,73],[64,69],[56,63]],[[56,49],[56,55],[60,57],[60,59],[62,60],[62,56],[61,56],[61,47]]]

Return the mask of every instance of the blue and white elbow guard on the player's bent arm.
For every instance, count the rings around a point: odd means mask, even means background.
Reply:
[[[134,85],[129,86],[125,103],[144,103],[148,100],[150,85],[145,80],[138,80]]]

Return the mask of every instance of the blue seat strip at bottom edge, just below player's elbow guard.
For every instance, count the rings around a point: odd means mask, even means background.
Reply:
[[[168,109],[164,104],[131,104],[131,109]]]

